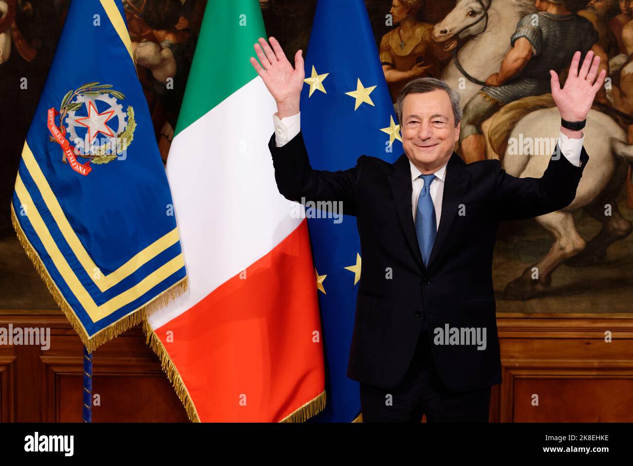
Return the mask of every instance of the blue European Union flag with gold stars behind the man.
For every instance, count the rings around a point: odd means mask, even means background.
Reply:
[[[398,120],[363,0],[319,0],[305,65],[301,132],[312,167],[345,170],[361,154],[395,161]],[[316,273],[327,275],[318,291],[327,405],[312,420],[350,422],[360,413],[358,382],[346,375],[362,260],[356,220],[308,225]]]

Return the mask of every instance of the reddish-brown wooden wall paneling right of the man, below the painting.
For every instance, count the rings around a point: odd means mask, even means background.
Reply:
[[[498,315],[498,329],[501,422],[633,422],[628,315]]]

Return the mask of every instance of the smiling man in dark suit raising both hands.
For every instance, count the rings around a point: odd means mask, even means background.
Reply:
[[[589,51],[579,70],[575,53],[563,89],[550,72],[559,142],[541,178],[519,179],[498,160],[467,165],[454,153],[459,95],[432,78],[413,80],[398,98],[396,162],[363,155],[348,170],[312,170],[299,128],[301,50],[293,68],[274,38],[254,48],[261,65],[251,63],[277,102],[269,148],[279,192],[342,201],[357,219],[363,270],[348,377],[360,382],[363,420],[487,422],[491,386],[501,383],[491,273],[498,224],[572,202],[589,160],[581,129],[605,79],[599,57]]]

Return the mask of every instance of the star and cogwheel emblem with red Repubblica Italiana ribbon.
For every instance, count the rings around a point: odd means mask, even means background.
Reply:
[[[51,141],[60,144],[61,161],[80,175],[91,172],[94,164],[109,163],[124,154],[134,139],[134,108],[118,103],[125,99],[111,84],[87,82],[66,92],[60,110],[49,108],[47,127]],[[60,115],[60,126],[55,117]],[[72,144],[71,144],[72,142]],[[84,163],[78,158],[86,159]]]

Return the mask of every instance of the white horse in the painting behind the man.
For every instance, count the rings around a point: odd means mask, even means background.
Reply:
[[[458,45],[457,38],[461,42],[468,39],[458,52],[458,61],[470,76],[485,81],[499,71],[503,57],[510,50],[510,36],[518,20],[535,11],[534,0],[458,0],[455,8],[435,26],[433,37],[444,43],[446,50]],[[482,87],[470,82],[453,61],[446,66],[442,79],[460,92],[462,106]],[[544,108],[523,116],[510,137],[524,140],[556,137],[559,127],[558,110]],[[614,156],[613,148],[624,144],[625,132],[610,116],[594,110],[589,112],[583,131],[584,147],[590,160],[576,197],[563,210],[536,218],[538,224],[552,234],[554,243],[546,256],[506,285],[503,293],[506,299],[529,299],[542,294],[551,284],[552,272],[561,263],[572,266],[599,263],[604,260],[609,244],[631,232],[630,222],[622,217],[615,201],[624,184],[627,167],[622,158]],[[501,164],[506,172],[517,177],[541,177],[551,157],[551,153],[513,156],[508,149]],[[622,146],[620,152],[624,152]],[[599,234],[589,242],[580,237],[573,223],[572,214],[579,208],[602,223]],[[611,215],[605,215],[606,209]]]

